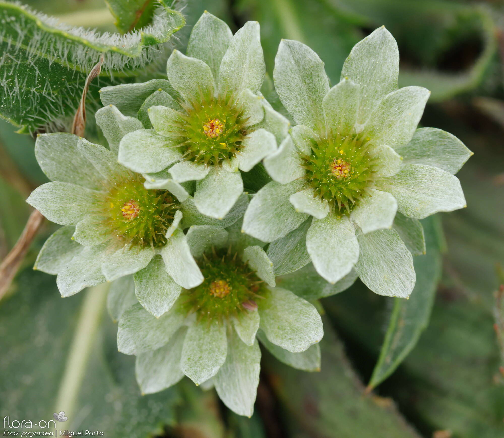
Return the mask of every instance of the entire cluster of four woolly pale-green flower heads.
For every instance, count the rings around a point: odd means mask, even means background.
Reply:
[[[409,297],[413,256],[425,252],[419,220],[465,206],[454,174],[471,152],[417,129],[429,92],[398,89],[398,72],[383,27],[355,45],[332,88],[316,53],[283,40],[274,85],[291,126],[261,93],[259,24],[233,35],[204,13],[167,79],[101,90],[108,148],[38,136],[51,182],[28,202],[63,227],[36,269],[57,274],[64,297],[112,281],[118,347],[137,356],[143,393],[187,376],[250,416],[259,342],[317,371],[314,302],[357,277]],[[308,277],[309,296],[295,287]]]

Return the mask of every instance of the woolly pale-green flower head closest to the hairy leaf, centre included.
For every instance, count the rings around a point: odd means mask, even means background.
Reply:
[[[139,111],[144,123],[121,139],[119,162],[149,174],[151,188],[196,181],[196,207],[221,219],[243,192],[240,170],[248,172],[276,152],[289,122],[259,94],[265,65],[257,22],[233,36],[206,12],[193,28],[187,54],[172,53],[168,81],[106,87],[101,98]]]

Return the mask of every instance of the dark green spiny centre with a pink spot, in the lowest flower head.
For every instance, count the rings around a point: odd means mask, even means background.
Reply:
[[[196,312],[199,321],[222,322],[240,312],[257,309],[256,301],[266,293],[266,284],[236,253],[212,251],[198,261],[205,280],[183,291],[184,307]]]

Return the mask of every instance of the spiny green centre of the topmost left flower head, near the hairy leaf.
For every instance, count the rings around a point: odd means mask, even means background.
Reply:
[[[229,161],[242,148],[247,118],[231,96],[184,105],[179,125],[186,160],[205,165]]]

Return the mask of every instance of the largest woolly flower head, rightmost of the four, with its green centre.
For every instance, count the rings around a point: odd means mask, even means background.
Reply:
[[[425,251],[418,220],[465,206],[453,173],[471,152],[447,132],[416,129],[429,92],[398,90],[398,72],[384,27],[355,45],[331,89],[316,53],[281,42],[275,87],[298,125],[265,159],[274,181],[250,202],[243,230],[276,248],[305,241],[278,256],[292,270],[311,260],[334,283],[354,269],[375,293],[407,298],[411,253]]]

